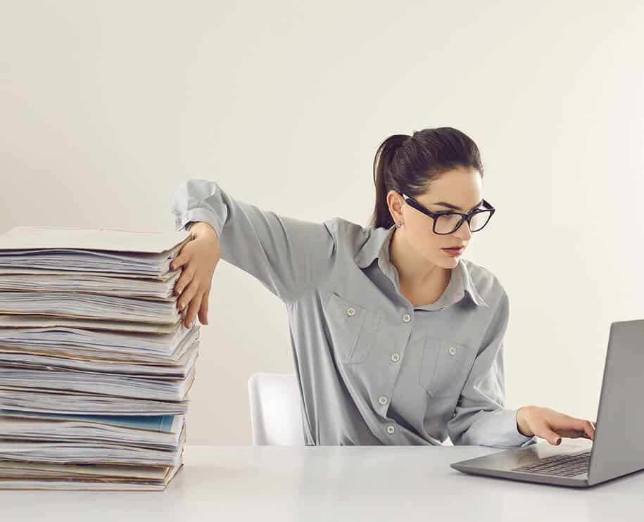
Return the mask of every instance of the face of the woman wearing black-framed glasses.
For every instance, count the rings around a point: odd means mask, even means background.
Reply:
[[[445,172],[441,177],[431,183],[431,187],[419,196],[411,196],[418,203],[431,210],[431,212],[454,212],[467,213],[481,205],[482,179],[478,170],[465,170],[458,168]],[[415,254],[428,262],[444,268],[453,268],[457,265],[459,257],[462,256],[472,232],[469,231],[467,222],[451,234],[435,234],[434,219],[423,214],[408,203],[405,203],[403,196],[396,191],[389,191],[387,194],[389,210],[396,222],[403,226],[396,231],[400,234],[408,248],[415,251]],[[453,205],[438,204],[448,203]],[[463,250],[457,255],[450,255],[443,248],[462,246]]]

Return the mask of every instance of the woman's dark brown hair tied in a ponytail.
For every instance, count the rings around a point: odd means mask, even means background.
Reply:
[[[419,196],[429,189],[431,182],[457,167],[478,170],[483,176],[479,148],[460,130],[437,127],[416,131],[411,136],[389,136],[374,158],[376,205],[370,226],[393,225],[387,205],[389,191],[404,192],[412,198]]]

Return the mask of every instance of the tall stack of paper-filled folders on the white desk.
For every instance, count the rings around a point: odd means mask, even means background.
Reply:
[[[0,235],[0,488],[163,490],[183,465],[199,326],[188,231]]]

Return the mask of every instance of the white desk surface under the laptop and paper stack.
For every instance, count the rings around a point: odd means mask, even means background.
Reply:
[[[582,446],[586,442],[579,440]],[[642,516],[642,472],[576,489],[472,476],[449,466],[497,451],[479,446],[188,445],[184,467],[165,491],[0,490],[1,518],[605,522]]]

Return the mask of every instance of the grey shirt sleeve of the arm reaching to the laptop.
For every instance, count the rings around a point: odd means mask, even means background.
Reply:
[[[517,427],[517,409],[505,408],[503,341],[510,315],[510,302],[503,290],[497,312],[486,332],[483,348],[474,359],[448,434],[454,445],[480,445],[512,449],[536,444]]]

